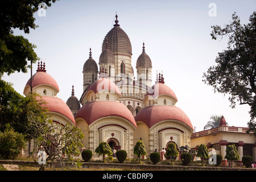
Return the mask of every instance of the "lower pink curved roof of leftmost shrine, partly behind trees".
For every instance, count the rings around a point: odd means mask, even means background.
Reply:
[[[73,117],[71,110],[63,100],[57,97],[49,96],[43,96],[42,98],[47,102],[46,107],[48,111],[62,114],[65,117],[69,118],[76,125],[75,118]]]

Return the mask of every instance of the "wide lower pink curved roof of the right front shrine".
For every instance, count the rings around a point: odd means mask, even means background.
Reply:
[[[148,106],[144,107],[136,116],[135,121],[142,121],[148,128],[160,121],[174,119],[188,125],[192,130],[193,126],[188,116],[179,107],[175,106]]]

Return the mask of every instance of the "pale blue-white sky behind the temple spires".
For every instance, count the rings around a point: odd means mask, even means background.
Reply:
[[[204,130],[212,115],[224,115],[229,126],[246,127],[250,107],[237,104],[232,109],[228,95],[214,93],[213,87],[202,80],[203,73],[216,65],[218,52],[227,47],[227,38],[212,40],[211,26],[229,24],[234,12],[241,24],[247,24],[255,7],[255,0],[61,0],[34,14],[39,27],[30,30],[30,34],[14,30],[14,35],[23,35],[36,45],[36,54],[59,85],[57,97],[66,102],[72,85],[80,99],[82,68],[89,58],[89,49],[92,48],[92,57],[98,63],[102,42],[113,28],[117,13],[118,24],[131,41],[134,72],[144,42],[152,61],[153,84],[156,71],[163,71],[165,84],[177,96],[176,106],[188,115],[196,132]],[[37,64],[33,66],[34,74]],[[30,71],[3,76],[20,94],[29,78]]]

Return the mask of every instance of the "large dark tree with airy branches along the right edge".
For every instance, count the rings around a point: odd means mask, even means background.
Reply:
[[[247,125],[256,136],[256,11],[243,26],[236,13],[232,19],[224,28],[212,26],[212,39],[228,36],[229,41],[227,49],[218,53],[217,65],[204,73],[203,81],[213,86],[214,92],[229,94],[232,108],[236,102],[250,106],[251,119]]]

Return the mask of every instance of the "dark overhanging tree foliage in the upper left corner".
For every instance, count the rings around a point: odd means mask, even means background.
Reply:
[[[34,13],[39,8],[51,6],[56,0],[43,1],[1,1],[0,2],[0,77],[15,71],[27,72],[27,60],[35,63],[38,60],[34,48],[36,46],[23,36],[13,35],[14,29],[30,33],[30,28],[38,27]]]

